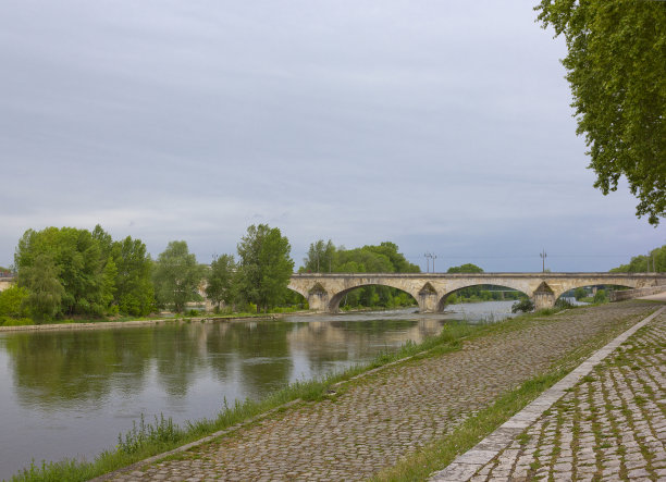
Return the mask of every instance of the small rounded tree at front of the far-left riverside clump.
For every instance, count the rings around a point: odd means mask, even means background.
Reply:
[[[38,254],[20,272],[18,284],[28,291],[25,304],[37,322],[59,312],[65,289],[58,277],[58,267],[47,254]]]

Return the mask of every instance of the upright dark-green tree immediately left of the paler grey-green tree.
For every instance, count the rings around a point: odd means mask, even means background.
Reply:
[[[152,260],[140,239],[114,242],[111,256],[118,269],[114,302],[123,313],[145,317],[155,309]]]

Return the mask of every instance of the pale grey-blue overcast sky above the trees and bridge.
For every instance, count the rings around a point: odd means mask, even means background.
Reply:
[[[27,228],[250,224],[396,243],[425,269],[606,271],[666,243],[585,169],[532,2],[3,0],[0,265]]]

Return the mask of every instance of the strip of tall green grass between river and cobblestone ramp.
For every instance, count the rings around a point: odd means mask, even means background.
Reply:
[[[491,329],[492,325],[483,324],[446,324],[439,335],[429,337],[420,344],[408,342],[395,353],[380,354],[368,364],[359,364],[321,380],[292,383],[259,401],[236,400],[231,407],[226,406],[226,401],[224,401],[224,408],[213,419],[190,421],[180,427],[173,423],[170,418],[156,418],[155,423],[149,423],[141,417],[140,422],[135,423],[133,430],[119,435],[116,447],[99,454],[92,461],[65,459],[57,462],[33,462],[28,468],[12,477],[11,481],[89,480],[215,432],[251,421],[251,419],[271,410],[275,410],[275,415],[278,415],[287,403],[294,400],[309,403],[334,398],[344,393],[349,385],[349,383],[336,385],[338,383],[347,381],[359,383],[358,380],[353,381],[353,379],[387,363],[400,360],[408,362],[406,359],[409,357],[414,360],[458,349],[461,346],[461,339]]]

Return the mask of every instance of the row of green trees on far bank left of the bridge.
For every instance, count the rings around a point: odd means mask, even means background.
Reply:
[[[251,225],[237,245],[238,261],[223,255],[197,262],[187,243],[174,240],[152,260],[140,239],[114,240],[100,225],[28,230],[18,240],[16,283],[0,293],[0,324],[104,316],[145,317],[169,308],[181,313],[207,297],[264,311],[294,301],[291,246],[279,228]],[[12,324],[11,321],[9,324]]]

